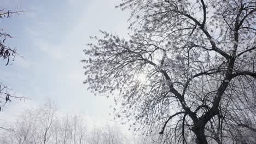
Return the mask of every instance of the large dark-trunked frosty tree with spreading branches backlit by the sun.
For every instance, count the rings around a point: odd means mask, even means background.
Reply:
[[[101,31],[83,60],[84,83],[115,95],[117,117],[168,143],[255,140],[255,1],[124,0],[117,7],[132,11],[130,39]]]

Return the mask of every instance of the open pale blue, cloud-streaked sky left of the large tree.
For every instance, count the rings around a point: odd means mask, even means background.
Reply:
[[[0,112],[1,119],[13,119],[22,110],[55,101],[64,113],[83,112],[88,116],[108,115],[113,98],[90,93],[83,63],[89,36],[99,30],[126,37],[128,11],[115,8],[118,0],[2,0],[1,9],[25,13],[1,19],[0,27],[13,38],[7,44],[23,56],[0,69],[0,81],[24,100],[13,100]]]

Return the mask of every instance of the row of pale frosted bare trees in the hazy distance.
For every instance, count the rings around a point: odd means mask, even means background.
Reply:
[[[2,144],[141,144],[143,136],[127,133],[127,129],[99,119],[89,125],[84,115],[61,115],[52,101],[35,109],[25,110],[10,130],[0,131]],[[105,124],[104,124],[105,123]],[[7,126],[6,126],[7,127]]]

